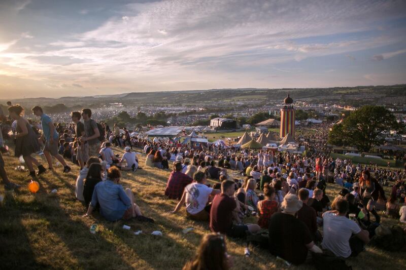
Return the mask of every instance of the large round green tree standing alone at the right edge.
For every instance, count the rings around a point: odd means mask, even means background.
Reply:
[[[349,114],[341,124],[334,125],[328,143],[336,146],[355,146],[368,152],[385,142],[382,132],[401,130],[395,116],[383,106],[366,105]]]

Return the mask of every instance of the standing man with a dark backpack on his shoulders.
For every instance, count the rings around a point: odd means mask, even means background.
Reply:
[[[85,136],[81,137],[82,142],[89,144],[89,157],[97,157],[100,148],[100,132],[97,128],[97,123],[91,119],[92,111],[90,109],[82,110],[84,120]]]

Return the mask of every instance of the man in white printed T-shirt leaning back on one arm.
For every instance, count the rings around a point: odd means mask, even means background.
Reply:
[[[194,182],[188,184],[183,192],[182,199],[179,201],[173,213],[186,203],[186,214],[194,220],[208,221],[210,219],[209,197],[220,194],[220,190],[213,189],[206,185],[207,178],[205,173],[196,172]]]

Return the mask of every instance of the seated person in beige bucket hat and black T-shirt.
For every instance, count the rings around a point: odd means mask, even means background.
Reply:
[[[269,220],[270,253],[293,264],[302,264],[308,250],[321,253],[312,239],[308,227],[295,214],[302,207],[296,195],[288,194],[282,202],[282,212],[275,213]]]

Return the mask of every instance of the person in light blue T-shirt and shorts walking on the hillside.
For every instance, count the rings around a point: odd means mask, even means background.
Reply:
[[[46,115],[40,106],[35,106],[32,108],[32,112],[41,117],[41,126],[42,126],[42,137],[45,138],[45,146],[44,146],[44,156],[48,162],[48,166],[50,170],[53,170],[52,166],[52,157],[57,159],[63,165],[63,172],[69,173],[71,171],[71,167],[67,166],[65,160],[62,158],[61,155],[58,154],[58,132],[56,132],[54,123]]]

